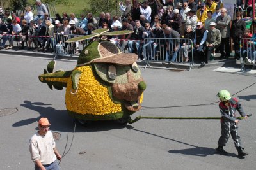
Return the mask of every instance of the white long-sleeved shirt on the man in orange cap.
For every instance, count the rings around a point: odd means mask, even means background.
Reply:
[[[45,136],[41,136],[36,132],[29,141],[29,151],[33,162],[40,160],[43,165],[51,164],[57,157],[54,153],[55,141],[51,131]]]

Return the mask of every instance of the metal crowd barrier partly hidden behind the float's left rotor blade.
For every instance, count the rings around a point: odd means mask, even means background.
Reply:
[[[54,59],[57,56],[78,56],[83,50],[83,48],[88,45],[90,39],[84,41],[76,41],[74,43],[66,43],[67,39],[75,38],[77,36],[83,35],[74,35],[74,34],[54,34],[53,41],[53,51],[54,51]]]

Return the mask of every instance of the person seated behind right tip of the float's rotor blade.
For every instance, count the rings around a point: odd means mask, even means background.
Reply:
[[[131,24],[129,24],[129,21],[127,18],[123,19],[123,23],[122,23],[122,30],[130,30],[133,31],[133,27]],[[132,33],[131,34],[127,34],[127,35],[121,35],[119,36],[119,39],[122,39],[122,44],[120,46],[120,50],[121,52],[125,53],[125,46],[127,46],[129,39],[131,39]]]

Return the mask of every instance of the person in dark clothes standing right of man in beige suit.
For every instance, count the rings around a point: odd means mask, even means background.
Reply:
[[[235,59],[240,59],[240,40],[243,38],[246,24],[244,20],[241,20],[243,14],[241,12],[236,13],[236,20],[232,22],[230,34],[234,41]]]

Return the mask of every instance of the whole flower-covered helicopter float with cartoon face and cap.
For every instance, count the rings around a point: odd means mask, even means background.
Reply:
[[[146,83],[136,64],[138,55],[122,53],[105,36],[131,34],[132,31],[108,32],[97,29],[92,35],[68,39],[67,43],[93,40],[84,47],[77,65],[70,71],[54,71],[52,60],[39,76],[62,90],[66,87],[65,103],[68,115],[86,124],[97,120],[117,120],[122,124],[131,121],[130,115],[141,109]]]

